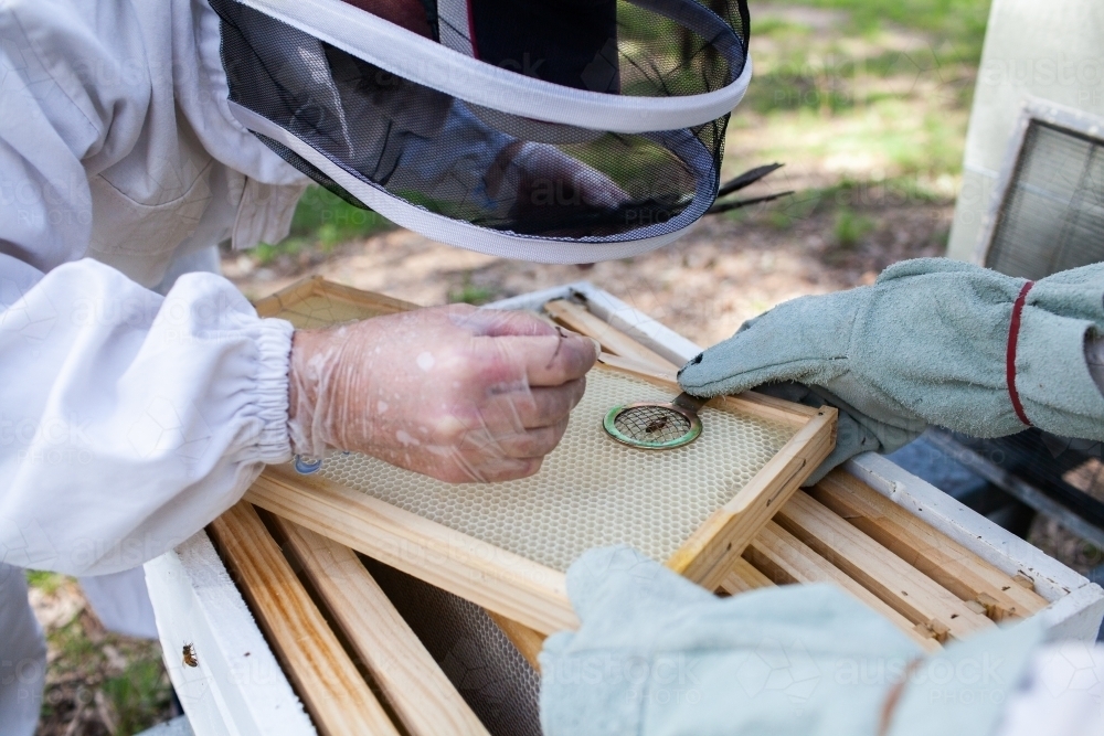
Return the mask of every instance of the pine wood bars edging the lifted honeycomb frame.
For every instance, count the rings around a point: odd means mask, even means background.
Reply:
[[[317,316],[320,303],[329,310],[325,320]],[[287,317],[301,328],[415,308],[320,278],[295,284],[256,307],[262,316]],[[622,352],[628,351],[622,348]],[[631,354],[606,355],[604,361],[604,370],[630,373],[678,393],[673,371],[667,372],[672,367],[669,363],[646,362]],[[784,423],[795,430],[752,480],[667,561],[676,572],[714,589],[731,575],[752,537],[831,451],[836,412],[753,393],[720,397],[708,406]],[[246,500],[540,633],[577,626],[563,572],[360,491],[316,476],[299,476],[286,467],[270,467]]]

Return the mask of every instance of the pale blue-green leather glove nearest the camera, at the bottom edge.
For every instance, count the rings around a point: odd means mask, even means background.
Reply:
[[[585,553],[567,591],[582,626],[540,655],[545,736],[987,736],[1043,633],[924,659],[835,586],[718,598],[628,547]]]

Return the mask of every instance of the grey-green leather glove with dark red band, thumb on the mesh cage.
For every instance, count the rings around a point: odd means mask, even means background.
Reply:
[[[745,322],[679,383],[714,396],[797,382],[767,390],[839,408],[836,450],[807,484],[852,455],[901,447],[927,424],[1000,437],[1030,423],[1104,439],[1104,396],[1084,352],[1104,333],[1104,264],[1027,284],[955,260],[906,260],[873,286],[803,297]]]

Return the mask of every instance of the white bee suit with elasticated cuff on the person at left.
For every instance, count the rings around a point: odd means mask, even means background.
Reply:
[[[201,2],[0,7],[0,736],[42,685],[14,568],[132,568],[290,454],[291,326],[212,274],[150,290],[280,239],[305,186],[230,115],[219,44]]]

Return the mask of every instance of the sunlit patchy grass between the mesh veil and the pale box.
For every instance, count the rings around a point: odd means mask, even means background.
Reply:
[[[989,0],[765,0],[755,77],[729,126],[722,179],[787,168],[768,205],[785,230],[826,211],[954,201]],[[846,230],[846,225],[845,225]],[[830,239],[839,241],[834,234]],[[847,239],[847,238],[845,238]]]

